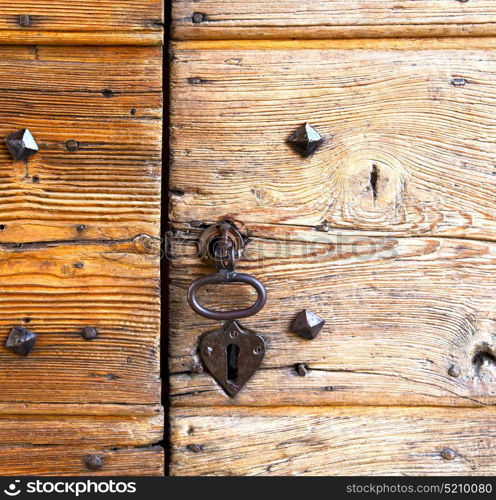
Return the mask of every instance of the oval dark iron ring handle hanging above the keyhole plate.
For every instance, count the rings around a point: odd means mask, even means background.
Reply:
[[[196,294],[198,290],[205,285],[215,283],[246,283],[251,285],[257,292],[258,297],[255,303],[246,309],[238,309],[237,311],[212,311],[203,307],[199,302]],[[239,318],[248,318],[256,314],[267,302],[267,290],[264,285],[249,274],[219,271],[218,273],[209,276],[203,276],[193,281],[188,289],[188,303],[191,309],[205,318],[215,320],[235,320]]]

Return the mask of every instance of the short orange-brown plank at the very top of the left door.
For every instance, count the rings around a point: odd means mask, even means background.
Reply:
[[[28,15],[28,26],[19,22]],[[0,6],[0,43],[157,45],[163,36],[161,0],[22,0]]]

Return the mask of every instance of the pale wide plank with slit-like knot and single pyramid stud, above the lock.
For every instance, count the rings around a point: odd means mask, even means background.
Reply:
[[[173,55],[173,220],[496,236],[494,50]],[[325,144],[303,159],[305,121]]]

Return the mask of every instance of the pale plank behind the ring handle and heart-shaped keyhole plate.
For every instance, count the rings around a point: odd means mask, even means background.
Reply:
[[[268,289],[265,308],[241,320],[267,341],[261,368],[234,399],[191,371],[197,339],[217,324],[191,311],[189,284],[213,272],[194,255],[197,229],[172,241],[170,372],[174,405],[494,404],[496,244],[443,238],[364,237],[248,225],[239,269]],[[190,231],[189,234],[186,231]],[[246,288],[207,287],[209,307],[246,307]],[[307,341],[291,332],[302,309],[326,320]],[[299,363],[307,366],[298,376]],[[449,374],[451,365],[459,376]]]

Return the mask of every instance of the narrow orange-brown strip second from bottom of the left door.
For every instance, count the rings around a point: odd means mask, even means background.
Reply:
[[[162,439],[163,415],[112,417],[74,415],[1,415],[1,446],[143,446]],[[0,448],[1,450],[1,448]],[[0,451],[1,456],[1,451]]]

